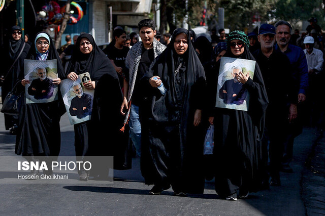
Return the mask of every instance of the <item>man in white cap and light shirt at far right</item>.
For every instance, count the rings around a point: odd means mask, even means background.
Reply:
[[[322,79],[319,77],[319,72],[322,69],[324,60],[323,53],[314,48],[314,38],[312,36],[306,36],[304,44],[306,46],[304,53],[306,55],[309,73],[309,113],[312,117],[312,123],[314,123],[316,119],[320,119],[321,107],[323,107],[320,104],[321,100],[319,100],[319,93],[323,92]]]

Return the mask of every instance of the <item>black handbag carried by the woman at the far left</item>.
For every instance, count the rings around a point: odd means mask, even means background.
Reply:
[[[24,92],[17,92],[17,84],[20,83],[18,81],[14,88],[9,92],[3,101],[1,112],[8,114],[8,115],[19,115],[18,106],[21,103],[21,98],[24,94]]]

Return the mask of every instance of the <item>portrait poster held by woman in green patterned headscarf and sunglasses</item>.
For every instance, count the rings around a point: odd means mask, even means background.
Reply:
[[[254,76],[255,61],[221,57],[217,84],[216,107],[236,110],[248,110],[249,93],[236,75],[242,72]]]

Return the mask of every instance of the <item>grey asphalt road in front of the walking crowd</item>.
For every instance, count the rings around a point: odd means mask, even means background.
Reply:
[[[113,184],[1,184],[1,215],[306,215],[300,180],[315,130],[305,128],[296,138],[293,174],[281,172],[280,187],[252,193],[248,199],[218,199],[213,181],[203,195],[176,197],[171,189],[148,195],[139,158],[131,170],[114,170]],[[0,114],[0,156],[15,155],[15,136],[5,131]],[[74,154],[74,132],[68,117],[61,118],[61,153]],[[1,165],[0,165],[1,166]]]

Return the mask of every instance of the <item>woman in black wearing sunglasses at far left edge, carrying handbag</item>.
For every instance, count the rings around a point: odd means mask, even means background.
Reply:
[[[0,76],[3,76],[0,78],[3,79],[1,95],[2,101],[5,100],[7,94],[14,88],[14,85],[19,80],[18,76],[29,49],[30,46],[23,40],[21,28],[16,25],[13,26],[11,28],[9,42],[5,42],[0,52],[2,67],[0,70]],[[10,129],[10,134],[16,134],[18,128],[17,125],[18,116],[5,114],[6,130]]]

